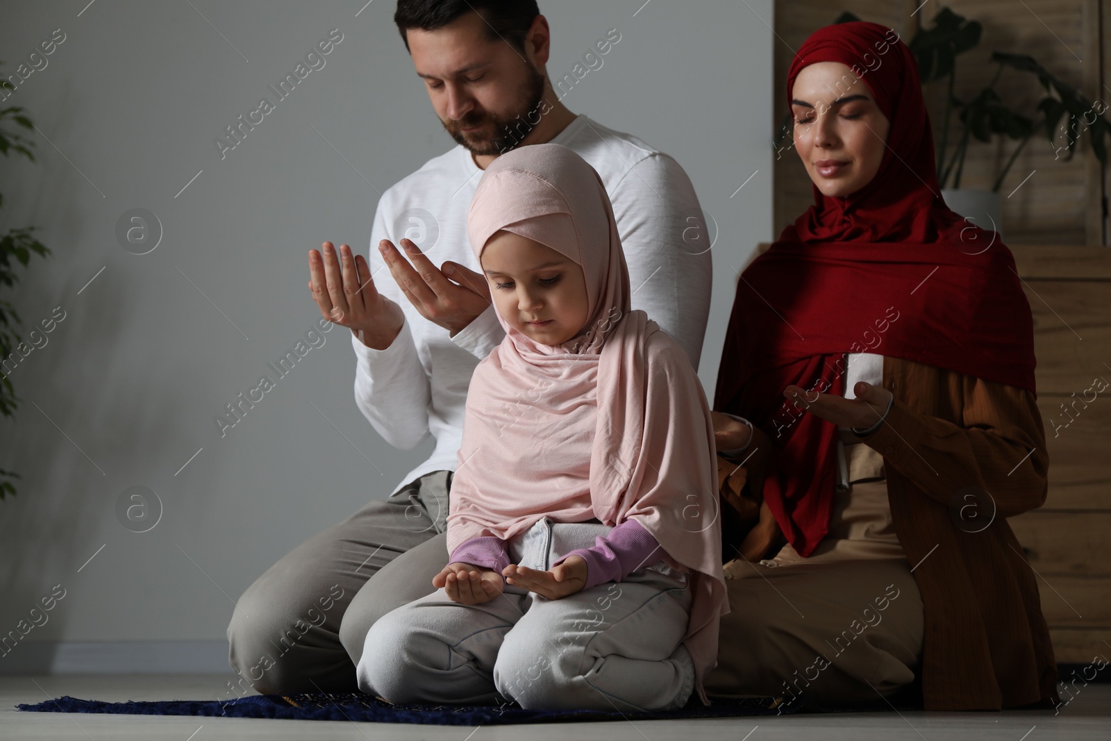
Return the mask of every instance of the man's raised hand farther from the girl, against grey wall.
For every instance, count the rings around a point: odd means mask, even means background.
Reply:
[[[384,350],[404,324],[401,307],[374,288],[364,257],[352,257],[347,244],[339,252],[337,258],[331,242],[324,242],[320,251],[309,250],[312,299],[324,319],[356,334],[362,330],[367,347]]]

